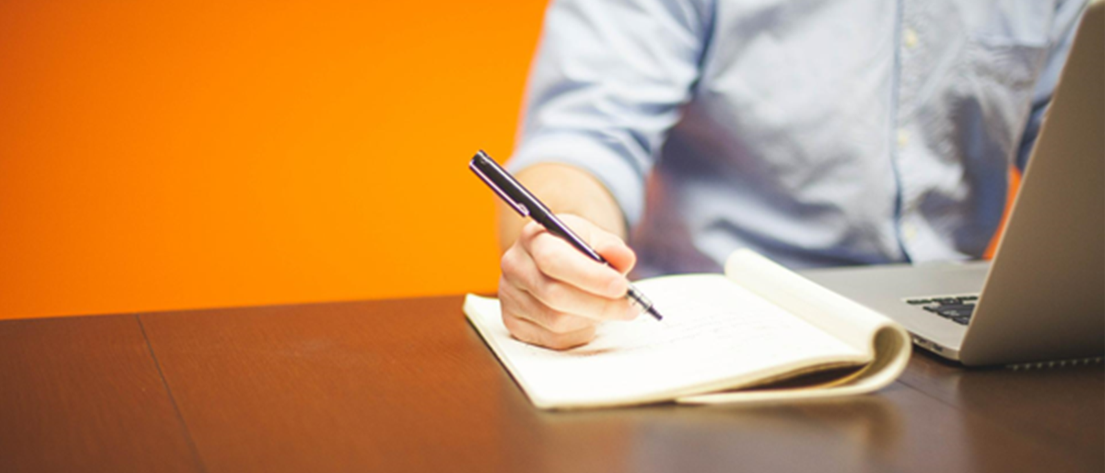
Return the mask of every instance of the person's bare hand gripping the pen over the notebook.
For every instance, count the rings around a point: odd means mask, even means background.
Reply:
[[[587,219],[558,217],[613,268],[529,222],[503,254],[498,298],[503,323],[515,338],[567,350],[594,338],[600,322],[632,320],[640,313],[625,298],[625,273],[636,256],[615,235]]]

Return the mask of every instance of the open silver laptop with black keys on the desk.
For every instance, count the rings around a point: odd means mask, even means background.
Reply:
[[[1105,2],[1082,19],[992,261],[802,271],[964,365],[1105,353]],[[1030,365],[1031,366],[1031,365]]]

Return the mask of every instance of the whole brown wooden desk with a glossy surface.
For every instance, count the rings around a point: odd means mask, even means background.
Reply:
[[[0,471],[1105,470],[1105,368],[540,412],[461,298],[0,322]]]

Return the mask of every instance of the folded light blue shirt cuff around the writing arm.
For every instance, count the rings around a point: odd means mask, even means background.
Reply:
[[[526,140],[507,162],[512,173],[537,163],[568,164],[587,171],[613,195],[629,228],[644,212],[644,170],[632,158],[604,146],[593,137],[548,133]]]

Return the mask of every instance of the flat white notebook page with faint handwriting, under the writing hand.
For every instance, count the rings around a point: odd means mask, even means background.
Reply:
[[[867,359],[720,275],[656,278],[638,287],[663,322],[608,322],[594,341],[565,352],[511,337],[494,299],[469,295],[465,312],[534,404],[545,408],[667,399],[803,364]]]

